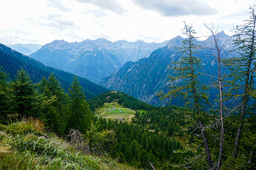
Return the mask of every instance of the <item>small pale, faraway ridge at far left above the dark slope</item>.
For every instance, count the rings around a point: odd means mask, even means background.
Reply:
[[[19,53],[30,55],[37,50],[39,50],[43,45],[40,44],[14,44],[14,45],[6,45],[9,46],[11,49],[16,50]]]

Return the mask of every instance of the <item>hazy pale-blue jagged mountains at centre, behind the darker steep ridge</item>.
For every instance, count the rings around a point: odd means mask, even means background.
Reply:
[[[67,42],[55,40],[43,45],[30,55],[47,66],[82,76],[93,82],[99,82],[112,74],[127,61],[137,61],[148,57],[150,53],[166,44],[147,43],[126,40],[108,41],[105,39]]]

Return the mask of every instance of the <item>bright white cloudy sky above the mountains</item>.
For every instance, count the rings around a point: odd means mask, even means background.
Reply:
[[[46,44],[105,38],[162,42],[193,23],[230,30],[249,18],[254,0],[8,0],[0,2],[0,43]]]

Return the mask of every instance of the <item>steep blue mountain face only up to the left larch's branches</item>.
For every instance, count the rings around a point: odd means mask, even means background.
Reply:
[[[148,58],[127,62],[99,84],[111,90],[125,92],[149,104],[164,105],[155,92],[167,89],[167,76],[171,74],[167,66],[177,56],[179,54],[176,50],[169,50],[167,46],[157,49]]]

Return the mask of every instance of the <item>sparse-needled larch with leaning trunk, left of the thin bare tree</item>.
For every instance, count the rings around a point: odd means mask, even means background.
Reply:
[[[210,149],[208,145],[207,135],[205,134],[205,104],[209,104],[208,95],[205,90],[209,87],[200,83],[199,76],[203,73],[200,70],[203,68],[201,66],[201,59],[196,56],[197,50],[201,48],[200,45],[196,44],[196,32],[192,25],[184,23],[184,34],[188,37],[183,41],[183,45],[179,48],[182,53],[182,57],[178,61],[171,62],[169,69],[172,69],[175,76],[168,76],[172,85],[169,87],[167,94],[163,91],[159,92],[158,96],[161,99],[174,99],[177,96],[182,96],[185,100],[185,105],[188,106],[191,111],[195,111],[195,119],[198,122],[198,128],[201,130],[200,135],[203,137],[203,143],[205,147],[205,152],[207,155],[207,160],[209,167],[214,168],[214,163],[212,155],[210,154]],[[182,82],[181,86],[176,86],[175,82]]]

